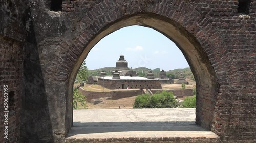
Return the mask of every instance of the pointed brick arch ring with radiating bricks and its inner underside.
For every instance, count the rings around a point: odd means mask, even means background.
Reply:
[[[133,5],[137,4],[134,3]],[[136,7],[133,5],[131,7]],[[142,5],[147,6],[146,3],[142,3]],[[202,16],[189,3],[177,3],[175,6],[175,10],[167,6],[158,9],[148,7],[146,12],[142,11],[141,7],[137,11],[126,9],[120,11],[118,8],[108,11],[102,8],[102,13],[99,13],[101,11],[98,7],[95,7],[88,12],[91,17],[81,17],[81,21],[90,21],[87,28],[80,31],[81,34],[73,38],[76,39],[73,43],[67,43],[66,41],[59,43],[59,49],[56,52],[58,55],[63,55],[63,57],[56,56],[55,63],[53,63],[54,69],[56,67],[69,67],[68,77],[63,76],[63,79],[59,79],[66,80],[65,87],[68,87],[66,90],[65,132],[69,130],[72,124],[72,116],[70,115],[72,115],[71,101],[74,79],[82,61],[91,48],[104,36],[119,28],[142,25],[161,32],[180,48],[197,82],[196,123],[221,135],[219,128],[217,128],[218,125],[216,125],[218,124],[216,119],[219,116],[215,112],[215,107],[220,90],[220,79],[218,77],[225,76],[227,68],[219,67],[219,63],[224,62],[224,57],[225,62],[229,62],[228,65],[233,65],[232,60],[226,48],[222,45],[223,40],[220,34],[212,27],[207,18]],[[123,8],[125,6],[122,6]],[[167,9],[166,12],[163,9]],[[92,16],[97,17],[96,13],[103,14],[103,17],[94,19]],[[187,15],[187,13],[190,13],[190,15]],[[60,76],[56,75],[55,79],[58,78]],[[226,82],[224,78],[221,80]]]

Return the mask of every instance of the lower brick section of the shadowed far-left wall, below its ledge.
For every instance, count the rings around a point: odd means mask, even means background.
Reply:
[[[20,136],[20,95],[22,92],[23,45],[0,36],[0,142],[18,142]],[[8,125],[4,125],[4,87],[8,86]],[[8,139],[4,129],[8,126]]]

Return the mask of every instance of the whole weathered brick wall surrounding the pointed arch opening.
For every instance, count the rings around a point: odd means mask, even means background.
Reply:
[[[130,25],[153,27],[177,43],[197,82],[197,124],[220,135],[223,142],[255,141],[255,0],[245,16],[238,13],[238,0],[65,0],[62,12],[49,11],[49,1],[31,0],[26,12],[31,12],[30,20],[24,12],[14,19],[27,1],[15,1],[10,14],[8,2],[1,5],[0,34],[28,42],[23,141],[51,142],[53,134],[61,137],[68,132],[79,66],[101,38]],[[28,83],[36,79],[40,84],[29,90]]]

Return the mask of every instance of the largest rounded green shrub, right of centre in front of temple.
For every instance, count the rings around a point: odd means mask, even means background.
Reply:
[[[176,108],[178,102],[172,92],[162,91],[152,96],[143,94],[135,98],[134,108]]]

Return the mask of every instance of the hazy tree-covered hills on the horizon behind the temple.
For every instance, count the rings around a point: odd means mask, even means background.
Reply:
[[[115,67],[104,67],[104,68],[100,68],[100,69],[96,69],[96,70],[88,70],[88,72],[89,72],[89,76],[100,75],[100,73],[102,71],[106,72],[107,75],[111,75],[114,68]],[[139,68],[134,68],[131,70],[136,71],[138,76],[146,77],[147,73],[151,69],[146,68],[146,67],[139,67]],[[159,77],[160,71],[161,71],[160,68],[152,69],[152,72],[153,72],[154,76],[156,76],[156,77]],[[174,69],[174,70],[166,71],[166,75],[168,77],[172,77],[173,79],[178,79],[180,76],[184,76],[185,78],[191,78],[194,80],[194,76],[189,67],[184,68],[184,69]]]

